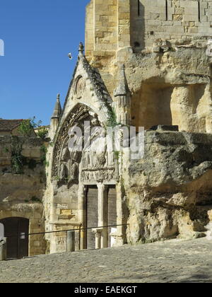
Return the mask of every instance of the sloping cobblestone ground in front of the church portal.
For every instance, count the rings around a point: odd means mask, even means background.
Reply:
[[[168,240],[0,262],[0,283],[211,282],[212,241]]]

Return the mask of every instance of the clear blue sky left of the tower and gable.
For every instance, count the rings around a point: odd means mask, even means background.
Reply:
[[[1,0],[0,118],[49,124],[57,93],[64,103],[69,88],[89,2]]]

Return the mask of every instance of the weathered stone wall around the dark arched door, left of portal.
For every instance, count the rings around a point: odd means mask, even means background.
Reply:
[[[44,146],[41,139],[0,136],[0,219],[29,219],[29,233],[45,231],[42,205],[46,182]],[[23,165],[17,165],[18,158]],[[45,249],[44,235],[30,236],[30,256],[43,254]]]

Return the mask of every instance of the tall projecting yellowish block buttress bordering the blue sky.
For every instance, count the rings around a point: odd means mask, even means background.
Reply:
[[[130,46],[129,0],[93,0],[86,9],[86,57],[100,68]]]

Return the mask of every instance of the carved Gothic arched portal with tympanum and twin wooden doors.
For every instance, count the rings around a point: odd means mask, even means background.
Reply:
[[[54,192],[58,192],[53,202],[54,222],[59,226],[59,220],[70,218],[73,226],[80,223],[82,249],[95,249],[100,237],[102,248],[111,246],[112,229],[103,228],[98,232],[96,228],[117,224],[117,195],[115,187],[110,185],[117,184],[118,161],[107,142],[109,135],[100,118],[90,107],[76,105],[59,129],[52,158],[53,187]],[[74,216],[71,215],[73,209]],[[71,223],[70,229],[73,228]],[[57,245],[66,248],[62,240],[56,240]],[[51,249],[51,252],[59,250]]]

